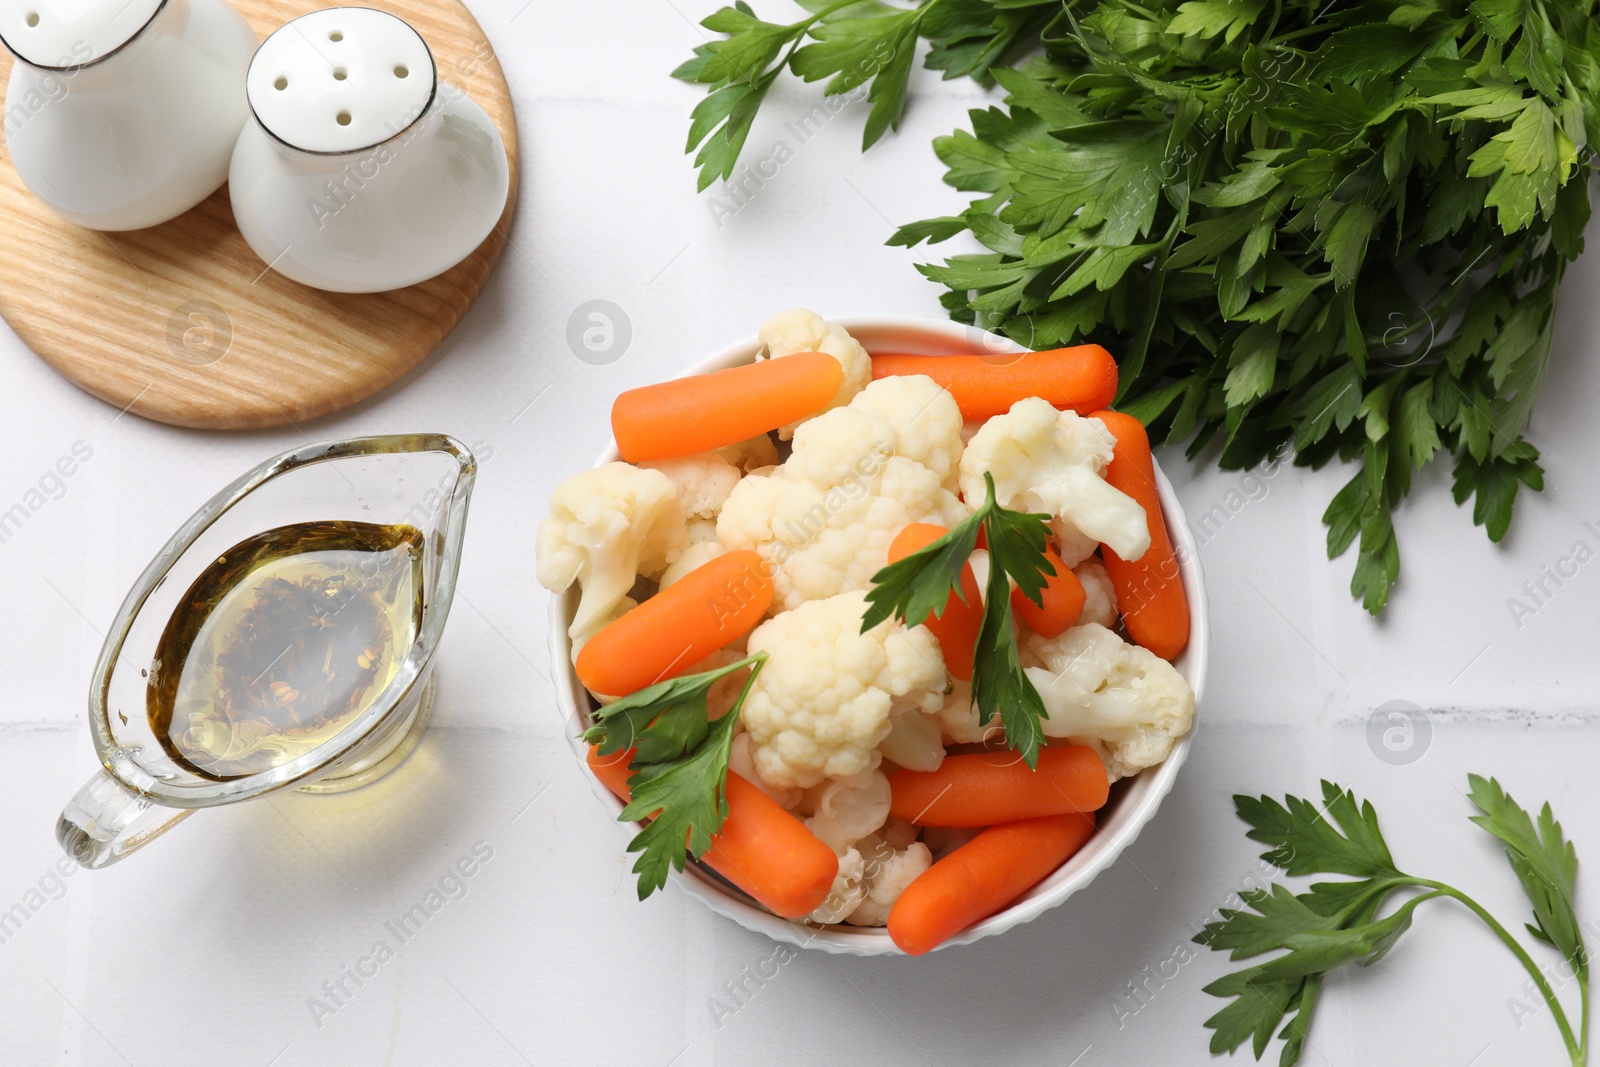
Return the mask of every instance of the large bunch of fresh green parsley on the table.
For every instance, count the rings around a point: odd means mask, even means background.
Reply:
[[[787,69],[869,86],[866,144],[894,128],[918,38],[1005,107],[939,138],[960,213],[915,246],[952,317],[1029,347],[1101,342],[1118,406],[1226,469],[1285,450],[1360,461],[1323,522],[1358,544],[1378,613],[1400,573],[1390,514],[1454,459],[1454,499],[1499,541],[1546,378],[1555,293],[1582,250],[1600,136],[1594,0],[802,0],[704,26],[675,74],[704,83],[690,150],[728,178]],[[1008,66],[1030,56],[1021,66]]]

